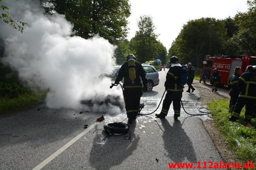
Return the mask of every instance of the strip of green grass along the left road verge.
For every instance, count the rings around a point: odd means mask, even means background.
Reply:
[[[16,98],[0,98],[0,113],[24,109],[44,101],[46,93],[23,94]]]

